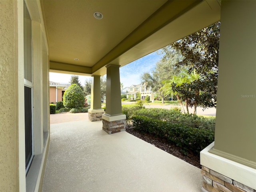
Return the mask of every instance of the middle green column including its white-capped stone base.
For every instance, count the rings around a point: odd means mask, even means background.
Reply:
[[[119,67],[112,64],[106,66],[106,113],[102,115],[102,129],[108,134],[125,131],[126,115],[122,114]]]

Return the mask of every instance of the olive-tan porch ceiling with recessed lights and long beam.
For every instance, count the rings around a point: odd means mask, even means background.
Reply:
[[[217,22],[219,2],[41,0],[50,71],[104,75],[107,64],[124,66]]]

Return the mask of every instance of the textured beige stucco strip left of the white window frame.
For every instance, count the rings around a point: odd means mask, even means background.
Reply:
[[[19,191],[16,1],[0,1],[0,189]]]

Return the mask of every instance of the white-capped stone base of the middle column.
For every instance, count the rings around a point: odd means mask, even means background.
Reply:
[[[107,116],[102,115],[102,130],[108,134],[125,131],[126,115]]]

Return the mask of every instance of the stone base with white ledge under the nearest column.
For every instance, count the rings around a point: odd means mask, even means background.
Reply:
[[[256,170],[210,153],[214,142],[200,152],[202,192],[256,192]]]

